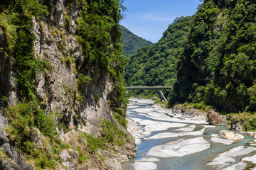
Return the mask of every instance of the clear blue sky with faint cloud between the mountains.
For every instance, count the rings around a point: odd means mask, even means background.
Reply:
[[[124,0],[126,18],[120,24],[132,33],[157,42],[176,17],[192,16],[200,0]]]

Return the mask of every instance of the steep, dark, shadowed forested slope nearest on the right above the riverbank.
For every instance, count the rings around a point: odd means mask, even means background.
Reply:
[[[254,1],[201,4],[178,61],[170,106],[191,101],[224,111],[256,111],[255,16]]]

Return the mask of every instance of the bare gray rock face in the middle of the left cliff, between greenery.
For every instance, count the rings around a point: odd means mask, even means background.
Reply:
[[[74,6],[70,12],[70,28],[64,27],[63,3],[61,0],[57,1],[56,8],[51,11],[51,18],[55,22],[49,22],[49,18],[43,21],[33,18],[36,58],[47,60],[51,67],[36,79],[37,96],[44,101],[46,113],[63,113],[62,119],[70,127],[75,125],[74,116],[78,115],[78,129],[97,135],[99,119],[111,120],[110,113],[107,113],[110,110],[107,96],[112,91],[112,82],[107,74],[101,71],[100,66],[91,66],[81,53],[74,35],[78,7]],[[75,4],[75,1],[73,3]],[[68,57],[73,59],[71,64],[65,62]],[[92,79],[84,86],[85,97],[82,102],[75,101],[78,89],[74,69]],[[100,96],[99,100],[96,101],[95,96]]]

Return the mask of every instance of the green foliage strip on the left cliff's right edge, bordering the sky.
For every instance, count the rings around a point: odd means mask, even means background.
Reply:
[[[112,96],[112,109],[125,120],[127,98],[122,72],[127,63],[122,54],[119,19],[121,10],[119,1],[80,0],[77,38],[90,64],[98,65],[107,72],[113,81],[115,94]],[[118,112],[122,109],[122,112]]]

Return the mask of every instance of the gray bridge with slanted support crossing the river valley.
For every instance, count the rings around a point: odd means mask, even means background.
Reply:
[[[129,90],[155,90],[161,101],[167,101],[164,94],[161,92],[162,89],[171,89],[172,86],[125,86],[127,91]]]

